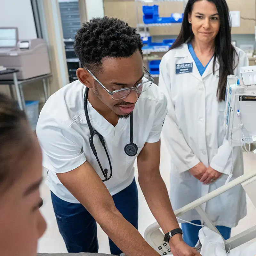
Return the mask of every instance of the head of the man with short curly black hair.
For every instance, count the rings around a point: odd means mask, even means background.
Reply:
[[[139,94],[133,90],[127,97],[113,100],[88,70],[111,92],[133,87],[144,75],[142,47],[136,29],[115,18],[94,18],[75,37],[75,52],[83,67],[77,69],[77,78],[119,117],[129,116]]]

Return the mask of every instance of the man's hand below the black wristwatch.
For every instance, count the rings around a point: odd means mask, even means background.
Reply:
[[[173,236],[170,241],[170,249],[173,256],[200,256],[199,252],[188,246],[182,239],[180,234]]]

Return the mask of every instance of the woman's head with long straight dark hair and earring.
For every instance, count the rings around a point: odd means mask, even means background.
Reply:
[[[227,76],[234,74],[234,46],[231,44],[231,21],[226,0],[188,0],[180,34],[171,49],[196,41],[214,44],[214,65],[220,64],[218,99],[225,100]]]

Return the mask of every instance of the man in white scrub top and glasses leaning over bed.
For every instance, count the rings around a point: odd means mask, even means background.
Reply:
[[[159,255],[137,231],[137,158],[140,187],[173,255],[199,255],[182,239],[159,172],[167,102],[143,68],[142,46],[121,20],[83,24],[75,39],[83,67],[78,80],[54,93],[40,113],[46,184],[68,252],[98,252],[98,222],[112,254]]]

